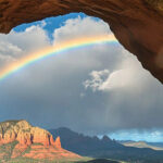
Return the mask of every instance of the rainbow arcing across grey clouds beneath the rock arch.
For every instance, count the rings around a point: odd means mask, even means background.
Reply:
[[[75,48],[83,48],[92,46],[96,43],[116,43],[117,40],[113,35],[104,35],[104,36],[96,36],[96,37],[85,37],[78,38],[74,40],[68,40],[66,42],[61,42],[55,46],[51,46],[40,51],[33,52],[27,54],[24,58],[4,66],[0,70],[0,80],[7,78],[8,76],[12,75],[13,73],[22,70],[23,67],[30,65],[39,60],[46,59],[47,57],[55,55],[62,53],[64,51],[70,51]]]

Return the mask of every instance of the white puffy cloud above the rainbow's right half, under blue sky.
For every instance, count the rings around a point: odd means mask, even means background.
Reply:
[[[67,20],[64,25],[54,30],[54,42],[68,41],[83,37],[109,35],[109,25],[103,21],[95,21],[91,17]]]

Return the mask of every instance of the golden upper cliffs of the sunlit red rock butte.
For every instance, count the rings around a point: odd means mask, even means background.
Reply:
[[[15,124],[11,122],[2,123],[0,125],[0,145],[15,140],[22,146],[29,146],[32,143],[55,146],[53,137],[49,131],[39,127],[33,127],[26,121],[15,122]]]

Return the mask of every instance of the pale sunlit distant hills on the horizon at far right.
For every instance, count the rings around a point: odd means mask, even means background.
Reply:
[[[136,148],[151,148],[153,150],[163,150],[163,147],[159,147],[154,143],[146,142],[146,141],[120,141],[120,143],[126,147],[136,147]]]

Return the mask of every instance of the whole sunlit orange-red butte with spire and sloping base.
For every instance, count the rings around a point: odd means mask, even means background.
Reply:
[[[0,124],[0,147],[13,143],[11,158],[25,156],[33,159],[79,159],[61,147],[60,137],[53,140],[52,135],[39,127],[33,127],[26,121],[11,121]],[[5,153],[1,153],[3,158]]]

